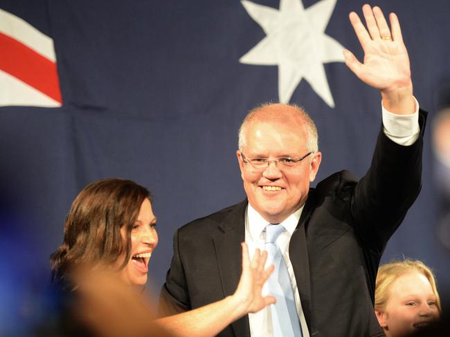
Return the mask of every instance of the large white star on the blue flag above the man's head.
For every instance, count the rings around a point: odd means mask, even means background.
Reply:
[[[280,10],[242,0],[249,15],[266,37],[239,61],[243,64],[278,65],[278,96],[287,103],[305,78],[330,107],[334,100],[324,63],[343,62],[343,46],[325,35],[336,0],[322,0],[305,10],[301,0],[280,0]]]

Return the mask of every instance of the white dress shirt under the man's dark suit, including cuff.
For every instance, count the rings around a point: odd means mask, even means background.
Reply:
[[[415,113],[411,115],[395,115],[390,113],[381,104],[382,119],[384,126],[384,133],[393,142],[400,145],[413,144],[420,134],[419,127],[419,104],[415,100]],[[300,295],[298,294],[297,282],[294,275],[294,269],[289,259],[289,241],[291,235],[297,227],[298,220],[302,214],[303,206],[295,213],[289,215],[289,217],[281,222],[286,231],[280,234],[277,239],[278,247],[282,252],[283,258],[287,265],[287,271],[289,272],[289,278],[291,278],[292,289],[294,290],[294,298],[296,302],[297,314],[300,320],[300,326],[302,327],[303,337],[309,337],[309,331],[305,320],[305,314],[303,313],[302,304],[300,302]],[[255,249],[264,249],[266,240],[265,227],[269,224],[262,216],[249,204],[246,209],[245,217],[245,242],[249,246],[250,257],[253,257]],[[266,266],[268,267],[268,266]],[[267,283],[262,288],[264,296],[269,294]],[[258,311],[255,314],[249,314],[250,334],[253,337],[272,337],[272,318],[271,307],[268,306]]]

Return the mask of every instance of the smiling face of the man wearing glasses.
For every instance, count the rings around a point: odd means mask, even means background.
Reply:
[[[291,107],[287,107],[291,108]],[[286,120],[258,119],[245,128],[245,145],[237,151],[244,189],[253,208],[271,223],[280,223],[305,204],[309,183],[314,180],[321,162],[321,153],[313,153],[295,166],[285,168],[270,162],[263,169],[255,169],[246,158],[303,157],[306,147],[305,122],[295,117]]]

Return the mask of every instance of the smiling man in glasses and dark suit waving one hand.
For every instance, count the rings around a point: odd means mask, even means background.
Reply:
[[[397,17],[390,15],[390,30],[379,8],[365,5],[363,14],[367,29],[354,12],[350,21],[364,63],[348,50],[344,55],[363,82],[381,91],[383,126],[368,173],[357,180],[340,171],[309,188],[321,164],[314,122],[293,105],[252,110],[237,151],[247,200],[177,231],[161,314],[231,295],[240,242],[264,249],[271,224],[283,227],[276,244],[294,294],[289,324],[300,325],[291,336],[384,336],[373,309],[375,277],[388,239],[420,191],[425,118],[413,98]],[[285,317],[275,311],[244,316],[219,336],[287,336],[278,332]]]

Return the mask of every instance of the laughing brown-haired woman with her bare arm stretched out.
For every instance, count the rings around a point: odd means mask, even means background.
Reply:
[[[64,226],[64,242],[51,254],[53,284],[71,298],[73,294],[89,293],[87,289],[94,289],[90,292],[91,298],[107,291],[107,287],[102,288],[102,282],[97,282],[94,288],[89,288],[89,282],[84,284],[83,280],[95,279],[96,274],[90,271],[107,271],[127,286],[145,285],[148,262],[158,244],[155,225],[150,193],[144,187],[122,179],[89,184],[73,201]],[[242,275],[232,296],[156,322],[176,336],[214,336],[237,318],[270,305],[275,298],[261,294],[262,285],[273,271],[273,266],[264,270],[266,258],[265,251],[256,251],[250,261],[243,243]],[[103,305],[105,309],[105,299],[110,300],[111,296],[114,297],[114,293],[100,296],[100,307]],[[145,329],[150,318],[137,318],[134,314],[140,314],[138,311],[141,309],[131,315],[127,313],[127,317],[136,318],[134,322],[127,322],[126,328],[136,328],[138,324],[143,328],[140,331],[148,331]]]

